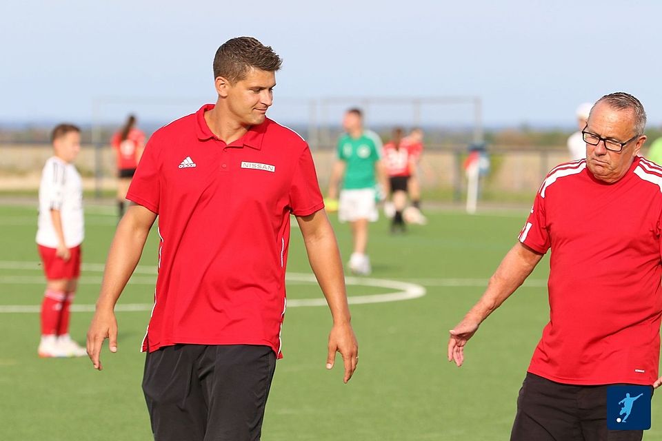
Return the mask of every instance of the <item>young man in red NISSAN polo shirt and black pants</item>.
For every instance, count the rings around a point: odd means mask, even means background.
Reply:
[[[259,440],[281,358],[290,214],[333,317],[327,368],[357,367],[342,263],[308,145],[265,118],[281,59],[256,39],[221,45],[215,105],[158,130],[146,146],[110,247],[88,352],[109,338],[114,304],[159,217],[159,277],[143,341],[157,440]]]

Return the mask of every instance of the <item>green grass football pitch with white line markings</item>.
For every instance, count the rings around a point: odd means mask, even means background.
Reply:
[[[81,287],[76,304],[93,305],[116,218],[112,207],[86,207]],[[532,351],[548,318],[548,258],[525,286],[481,326],[458,369],[446,361],[448,329],[481,295],[488,277],[512,247],[526,216],[516,212],[430,211],[430,224],[404,236],[372,225],[371,278],[422,285],[425,296],[352,305],[361,362],[343,384],[341,362],[325,370],[330,314],[325,307],[290,307],[283,328],[285,358],[276,376],[263,425],[265,441],[297,440],[507,440],[516,397]],[[34,233],[34,207],[0,207],[0,311],[41,302],[43,275]],[[337,223],[335,223],[337,225]],[[337,225],[345,260],[348,227]],[[119,305],[150,305],[154,291],[155,234],[140,274]],[[320,298],[319,287],[297,281],[310,274],[303,241],[292,232],[290,299]],[[355,280],[352,280],[355,282]],[[388,285],[388,283],[385,283]],[[350,296],[398,289],[348,286]],[[0,312],[0,440],[150,440],[141,392],[139,345],[150,312],[119,311],[119,352],[102,354],[104,370],[87,358],[39,359],[39,314]],[[72,336],[83,341],[90,311],[72,317]],[[662,441],[662,412],[653,402],[645,440]]]

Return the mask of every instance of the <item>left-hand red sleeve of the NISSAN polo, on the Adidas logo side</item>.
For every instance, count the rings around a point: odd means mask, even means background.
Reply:
[[[161,200],[161,145],[158,137],[152,136],[145,147],[126,198],[159,214]]]

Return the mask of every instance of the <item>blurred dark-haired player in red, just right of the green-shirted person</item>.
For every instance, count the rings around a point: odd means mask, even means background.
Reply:
[[[393,130],[393,138],[383,147],[386,171],[388,173],[389,194],[394,214],[391,219],[391,232],[404,232],[403,210],[407,204],[408,181],[414,172],[414,157],[403,143],[403,130]]]

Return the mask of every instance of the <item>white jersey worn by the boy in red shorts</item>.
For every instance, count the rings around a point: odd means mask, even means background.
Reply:
[[[64,242],[68,248],[83,242],[83,182],[73,164],[51,156],[41,172],[39,184],[39,223],[37,243],[57,248],[58,239],[50,210],[57,209],[62,220]]]

